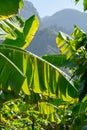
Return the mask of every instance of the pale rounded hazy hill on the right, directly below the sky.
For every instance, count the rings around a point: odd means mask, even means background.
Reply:
[[[87,32],[87,13],[82,13],[74,9],[61,10],[52,16],[43,18],[41,29],[51,28],[70,34],[73,31],[74,25]]]

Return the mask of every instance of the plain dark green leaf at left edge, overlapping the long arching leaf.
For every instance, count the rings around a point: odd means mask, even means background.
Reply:
[[[6,91],[10,86],[15,93],[19,93],[24,80],[21,70],[0,52],[0,89]]]

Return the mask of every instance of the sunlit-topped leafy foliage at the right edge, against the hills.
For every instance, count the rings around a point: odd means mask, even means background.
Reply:
[[[60,32],[56,42],[60,51],[73,63],[73,76],[77,76],[80,81],[81,100],[87,94],[87,34],[75,26],[72,38]]]

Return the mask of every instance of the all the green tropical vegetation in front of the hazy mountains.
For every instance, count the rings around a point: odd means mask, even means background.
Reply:
[[[80,130],[87,125],[87,34],[76,25],[71,36],[59,32],[61,53],[38,57],[26,47],[39,20],[23,21],[22,7],[22,0],[0,1],[0,129]]]

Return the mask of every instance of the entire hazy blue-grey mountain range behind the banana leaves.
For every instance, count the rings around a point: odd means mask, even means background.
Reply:
[[[74,9],[64,9],[52,16],[46,16],[41,19],[33,4],[25,1],[25,6],[21,14],[24,19],[33,14],[36,14],[40,19],[40,28],[27,48],[36,55],[59,53],[55,42],[59,31],[71,34],[74,25],[77,25],[87,32],[87,13],[82,13]]]

